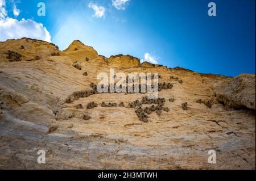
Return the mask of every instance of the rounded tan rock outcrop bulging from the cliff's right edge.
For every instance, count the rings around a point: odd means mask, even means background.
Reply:
[[[255,74],[241,74],[216,87],[218,102],[232,108],[255,110]]]

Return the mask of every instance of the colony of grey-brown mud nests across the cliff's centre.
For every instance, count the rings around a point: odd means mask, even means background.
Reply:
[[[79,63],[75,62],[75,64],[73,64],[73,66],[76,68],[76,69],[79,69],[81,70],[81,66]],[[83,73],[83,75],[87,76],[88,73],[85,72]],[[116,75],[114,75],[114,78],[116,77]],[[159,75],[160,78],[162,78],[162,76]],[[152,78],[153,79],[153,78]],[[178,81],[180,84],[183,83],[182,80],[180,80],[178,77],[173,77],[171,76],[170,77],[171,80],[176,80]],[[126,82],[130,81],[129,80],[129,77],[126,77]],[[127,85],[127,84],[126,84]],[[113,85],[115,87],[115,84]],[[143,85],[144,86],[144,85]],[[72,95],[69,96],[69,98],[65,101],[66,103],[72,103],[73,101],[75,100],[78,100],[79,98],[86,98],[90,95],[94,95],[94,94],[100,94],[100,92],[98,92],[97,90],[97,85],[95,85],[94,83],[90,83],[90,87],[92,88],[92,90],[85,90],[85,91],[76,91],[76,92],[73,92]],[[166,82],[163,82],[163,83],[158,83],[158,90],[161,91],[161,90],[168,90],[168,89],[172,89],[174,87],[174,85],[172,85],[172,83],[166,83]],[[107,87],[104,87],[102,85],[101,87],[102,89],[108,89],[108,92],[110,92],[110,86],[107,86]],[[142,89],[142,85],[138,85],[138,88],[139,88],[139,93],[140,94],[144,94],[145,92],[142,92],[141,89]],[[153,86],[152,86],[153,88]],[[125,89],[127,90],[127,87],[125,87]],[[135,92],[135,86],[133,85],[133,92]],[[115,91],[114,93],[119,93],[117,91]],[[168,99],[169,102],[174,102],[174,98],[170,98]],[[148,115],[151,115],[152,112],[155,112],[158,116],[160,116],[162,114],[162,111],[165,111],[165,112],[169,112],[170,109],[168,107],[164,107],[164,103],[166,103],[166,99],[165,98],[157,98],[157,99],[150,99],[148,98],[147,96],[143,97],[141,99],[141,101],[139,100],[135,100],[134,102],[131,102],[128,104],[128,107],[129,108],[134,108],[136,109],[135,110],[135,113],[137,114],[138,116],[138,119],[143,121],[144,123],[147,123],[148,122],[148,119],[150,118]],[[210,101],[203,101],[201,99],[199,100],[196,100],[196,103],[204,103],[207,107],[211,108],[212,107],[212,104],[210,103]],[[147,105],[150,105],[150,107],[142,107],[143,104],[147,104]],[[97,107],[98,104],[95,103],[95,102],[90,102],[86,108],[87,109],[92,109],[94,107]],[[117,103],[106,103],[106,102],[102,102],[100,104],[100,106],[102,108],[104,107],[125,107],[125,104],[123,102],[117,104]],[[82,109],[82,104],[78,104],[76,106],[77,109]],[[183,110],[188,110],[188,103],[185,102],[185,103],[182,103],[181,104],[181,108]],[[89,120],[90,119],[90,116],[88,115],[84,115],[84,119],[85,120]]]

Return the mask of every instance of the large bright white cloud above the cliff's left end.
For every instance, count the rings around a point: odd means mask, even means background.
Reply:
[[[0,0],[1,1],[1,0]],[[51,36],[42,23],[31,19],[16,20],[13,18],[0,19],[0,41],[30,37],[51,42]]]

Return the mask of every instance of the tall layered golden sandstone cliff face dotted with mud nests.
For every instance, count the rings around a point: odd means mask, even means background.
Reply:
[[[140,121],[129,103],[147,94],[67,102],[77,92],[87,95],[109,68],[159,73],[160,83],[173,85],[159,92],[169,111]],[[139,64],[131,56],[106,58],[80,41],[63,52],[38,40],[1,42],[0,169],[255,169],[253,86],[255,75],[230,78]],[[98,106],[88,109],[90,102]],[[237,109],[244,106],[253,111]],[[217,163],[210,165],[212,149]],[[38,150],[46,151],[46,164],[38,164]]]

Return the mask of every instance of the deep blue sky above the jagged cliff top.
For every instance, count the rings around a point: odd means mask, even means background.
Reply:
[[[46,16],[37,15],[39,2],[46,4]],[[217,16],[208,16],[209,2],[216,3]],[[48,39],[47,31],[60,49],[79,39],[106,57],[131,54],[200,73],[255,73],[255,0],[6,0],[3,8],[6,24],[15,19],[31,28],[22,36],[40,31]],[[2,24],[0,9],[0,41],[10,34]]]

